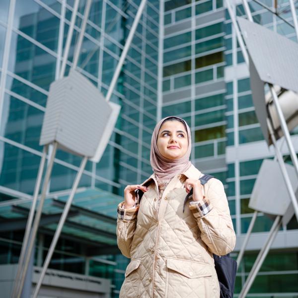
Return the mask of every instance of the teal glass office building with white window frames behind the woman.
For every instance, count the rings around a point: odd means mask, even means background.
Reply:
[[[78,70],[103,94],[140,2],[92,1]],[[288,2],[278,4],[291,22]],[[74,0],[0,1],[2,265],[18,261],[42,155],[39,137],[47,95],[59,77],[73,6]],[[81,0],[67,72],[84,7]],[[283,20],[255,2],[250,7],[256,22],[296,41],[294,29]],[[240,1],[235,13],[244,14]],[[87,163],[49,268],[69,276],[108,279],[110,297],[118,297],[129,260],[116,247],[116,208],[127,184],[140,183],[151,174],[150,139],[158,119],[177,115],[188,122],[192,161],[223,181],[238,239],[243,239],[252,217],[248,202],[258,170],[273,151],[263,141],[249,72],[223,0],[148,0],[111,100],[121,105],[116,127],[101,161]],[[297,133],[292,132],[294,141]],[[290,162],[286,149],[283,152]],[[58,150],[35,244],[35,271],[46,257],[79,162],[79,157]],[[236,293],[272,223],[258,214],[238,270]],[[298,224],[293,218],[279,231],[249,297],[298,297],[295,239]]]

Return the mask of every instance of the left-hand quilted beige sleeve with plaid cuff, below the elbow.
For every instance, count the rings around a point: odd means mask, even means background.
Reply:
[[[122,254],[130,258],[132,240],[137,226],[139,204],[130,209],[124,209],[123,204],[124,202],[121,202],[118,205],[117,244]]]

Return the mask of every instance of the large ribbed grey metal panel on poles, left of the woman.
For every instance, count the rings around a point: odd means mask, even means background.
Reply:
[[[40,145],[56,141],[61,149],[97,162],[119,110],[119,105],[107,102],[86,77],[72,70],[51,84]]]

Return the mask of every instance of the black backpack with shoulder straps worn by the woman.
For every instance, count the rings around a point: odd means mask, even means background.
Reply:
[[[204,185],[211,178],[213,178],[213,176],[206,174],[202,176],[199,180],[201,181],[201,184]],[[191,189],[191,191],[187,194],[184,200],[183,212],[184,212],[186,201],[192,195],[192,193],[193,193],[193,190]],[[139,204],[141,202],[143,194],[144,192],[140,189],[136,191]],[[215,270],[220,283],[220,291],[221,291],[220,298],[233,298],[236,272],[237,272],[237,262],[230,257],[229,253],[225,256],[218,256],[216,254],[213,254],[213,258],[214,258]]]

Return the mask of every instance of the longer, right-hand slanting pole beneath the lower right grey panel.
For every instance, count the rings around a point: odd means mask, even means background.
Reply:
[[[252,283],[254,282],[256,275],[258,274],[267,254],[268,254],[268,251],[272,245],[272,242],[274,241],[274,239],[277,235],[277,232],[281,225],[281,220],[282,220],[281,216],[277,216],[275,218],[275,221],[272,224],[272,227],[270,229],[266,243],[263,246],[263,248],[261,249],[261,251],[259,252],[258,257],[255,260],[252,269],[250,270],[250,273],[247,277],[247,280],[246,280],[238,298],[245,298],[247,293],[249,292],[250,287],[251,287]]]

